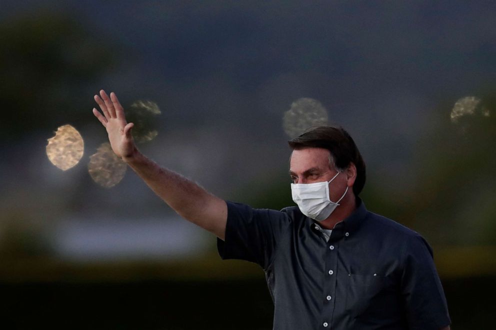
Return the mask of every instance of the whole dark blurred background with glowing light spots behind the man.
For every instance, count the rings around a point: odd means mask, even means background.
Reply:
[[[143,153],[259,208],[293,205],[289,138],[343,126],[367,208],[433,247],[452,329],[494,329],[495,2],[0,9],[2,329],[272,327],[262,270],[220,261],[213,235],[112,158],[91,114],[101,88]]]

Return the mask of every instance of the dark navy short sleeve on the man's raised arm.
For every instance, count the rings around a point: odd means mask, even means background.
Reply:
[[[228,201],[226,204],[224,241],[217,238],[220,257],[254,262],[267,269],[284,233],[288,231],[288,215],[282,211],[253,209]]]

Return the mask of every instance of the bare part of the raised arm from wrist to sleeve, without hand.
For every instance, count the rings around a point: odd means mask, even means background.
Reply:
[[[181,217],[224,239],[227,221],[224,200],[183,176],[161,168],[138,150],[122,159]]]

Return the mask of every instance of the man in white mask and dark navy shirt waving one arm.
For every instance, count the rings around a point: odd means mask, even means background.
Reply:
[[[298,206],[258,210],[160,168],[136,149],[115,94],[94,98],[115,154],[179,215],[215,234],[223,259],[263,268],[274,329],[449,329],[430,247],[365,209],[365,165],[343,129],[317,127],[289,141]]]

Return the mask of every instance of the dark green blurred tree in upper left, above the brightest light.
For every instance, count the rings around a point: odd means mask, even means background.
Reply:
[[[67,12],[6,19],[0,23],[0,44],[3,140],[89,120],[91,98],[84,91],[116,63],[112,45]]]

